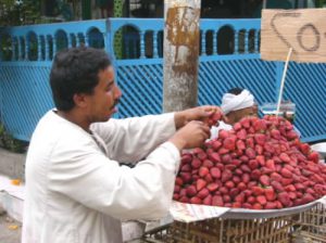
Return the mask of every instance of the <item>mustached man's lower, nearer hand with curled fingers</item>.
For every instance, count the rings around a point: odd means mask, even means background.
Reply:
[[[168,140],[174,143],[180,151],[201,146],[211,136],[210,127],[202,122],[192,120],[180,128]]]

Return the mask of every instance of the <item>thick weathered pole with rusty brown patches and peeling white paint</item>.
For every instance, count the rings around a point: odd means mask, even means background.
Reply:
[[[200,4],[164,0],[164,112],[197,106]]]

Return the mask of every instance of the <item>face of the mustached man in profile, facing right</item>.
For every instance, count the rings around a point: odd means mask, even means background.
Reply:
[[[114,71],[109,66],[99,72],[99,84],[88,97],[88,119],[90,123],[106,122],[117,111],[115,107],[122,95],[114,81]]]

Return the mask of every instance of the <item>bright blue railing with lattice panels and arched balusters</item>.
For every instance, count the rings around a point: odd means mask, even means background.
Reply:
[[[283,64],[260,59],[260,24],[201,21],[199,104],[220,104],[236,86],[251,90],[259,104],[277,100]],[[123,90],[117,117],[161,113],[163,26],[163,20],[109,18],[0,28],[1,122],[29,140],[53,106],[48,82],[53,55],[82,44],[105,49],[114,62]],[[297,104],[296,126],[305,141],[326,138],[325,72],[325,64],[289,66],[284,98]]]

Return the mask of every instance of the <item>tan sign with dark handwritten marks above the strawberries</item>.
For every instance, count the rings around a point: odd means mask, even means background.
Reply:
[[[326,9],[263,10],[261,57],[326,63]]]

